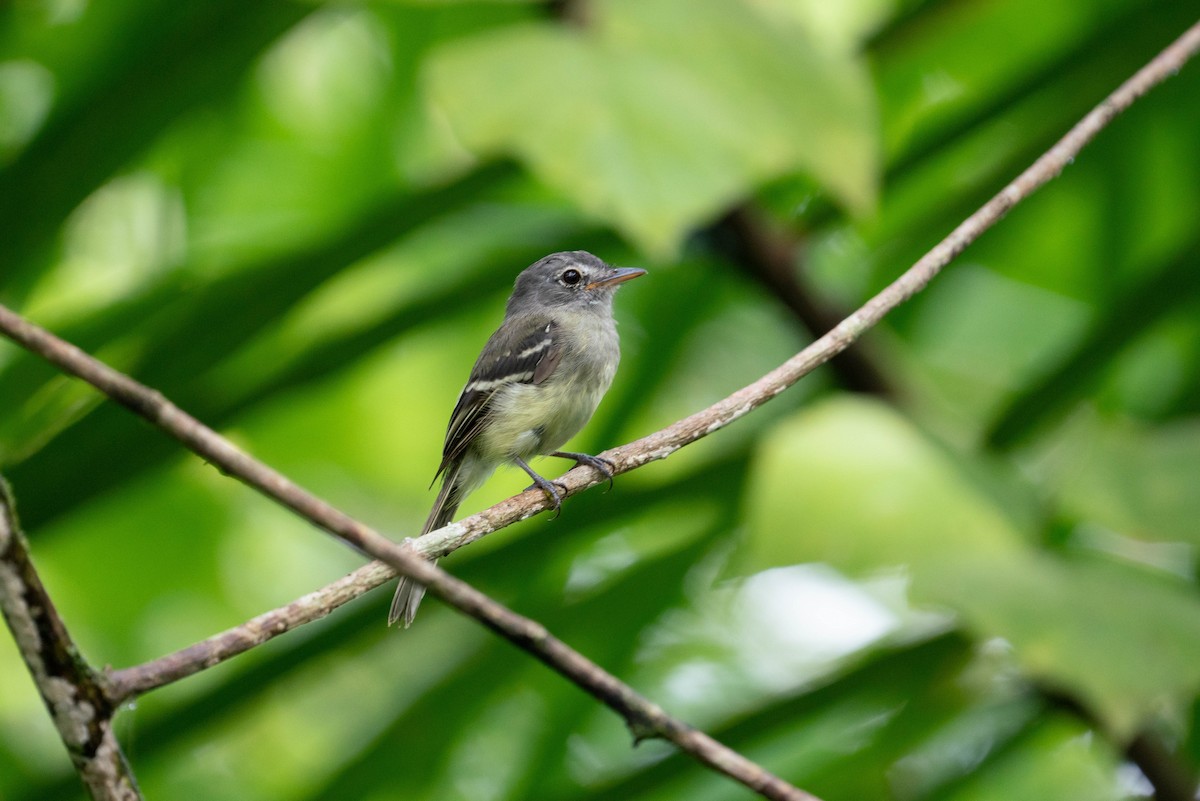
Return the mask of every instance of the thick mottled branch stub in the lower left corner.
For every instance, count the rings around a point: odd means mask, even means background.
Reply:
[[[46,592],[0,480],[0,610],[79,778],[97,801],[140,801],[113,735],[113,704]]]

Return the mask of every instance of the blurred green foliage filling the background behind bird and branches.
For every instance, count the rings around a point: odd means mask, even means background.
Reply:
[[[836,319],[1194,22],[1176,0],[18,0],[0,300],[402,537],[512,277],[649,277],[575,442],[811,339],[713,222],[751,203]],[[839,366],[445,566],[827,801],[1127,799],[1200,769],[1200,68]],[[779,277],[776,276],[776,279]],[[820,333],[820,332],[816,332]],[[546,463],[547,470],[560,465]],[[0,471],[97,666],[358,558],[14,347]],[[502,470],[467,512],[523,487]],[[740,799],[388,591],[118,717],[148,797]],[[1135,736],[1165,763],[1134,765]],[[0,638],[0,797],[79,797]]]

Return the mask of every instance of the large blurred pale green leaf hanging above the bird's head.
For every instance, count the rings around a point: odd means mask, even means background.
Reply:
[[[875,203],[862,65],[742,4],[598,4],[586,31],[522,25],[448,46],[426,78],[469,149],[517,156],[654,253],[797,170],[857,212]]]

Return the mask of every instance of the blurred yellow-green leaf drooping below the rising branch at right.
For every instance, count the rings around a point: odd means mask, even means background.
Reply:
[[[904,570],[916,603],[1004,638],[1032,676],[1121,733],[1200,687],[1194,588],[1036,547],[971,475],[882,404],[811,408],[776,429],[752,471],[750,562]]]

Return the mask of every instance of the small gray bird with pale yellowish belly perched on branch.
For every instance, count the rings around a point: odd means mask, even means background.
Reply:
[[[504,323],[484,345],[450,415],[442,489],[421,534],[449,523],[458,505],[508,462],[529,474],[557,510],[554,484],[527,459],[558,456],[612,480],[612,468],[587,453],[559,451],[583,428],[608,391],[620,361],[612,299],[625,281],[646,275],[611,267],[583,251],[552,253],[517,276]],[[416,615],[425,588],[400,579],[388,625]]]

